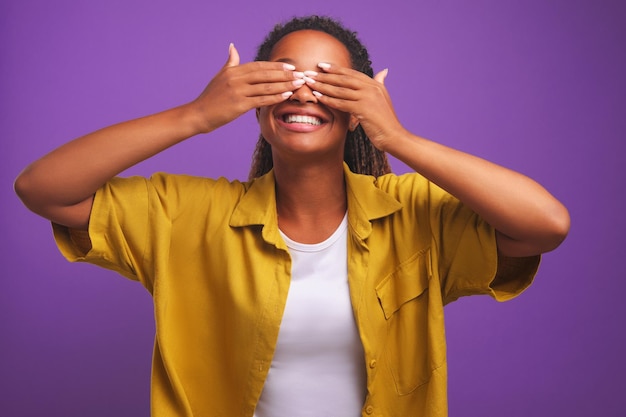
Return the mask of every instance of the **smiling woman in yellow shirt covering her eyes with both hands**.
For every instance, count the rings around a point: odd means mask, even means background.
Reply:
[[[153,415],[446,415],[443,305],[519,294],[565,238],[543,187],[408,132],[372,75],[354,33],[294,19],[256,62],[231,45],[196,100],[17,178],[68,259],[152,293]],[[115,178],[252,109],[250,181]],[[384,152],[416,173],[387,174]]]

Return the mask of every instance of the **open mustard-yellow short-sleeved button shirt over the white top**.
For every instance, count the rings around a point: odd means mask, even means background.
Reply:
[[[514,297],[539,257],[496,274],[494,230],[434,184],[347,167],[345,176],[350,296],[367,369],[362,415],[445,416],[443,306],[471,294]],[[152,294],[153,416],[253,415],[290,281],[275,201],[271,172],[244,183],[115,178],[96,194],[89,253],[54,225],[68,259],[113,269]]]

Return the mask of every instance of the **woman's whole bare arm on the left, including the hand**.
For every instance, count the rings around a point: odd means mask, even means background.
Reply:
[[[123,170],[199,133],[210,132],[255,107],[285,100],[296,73],[287,64],[239,65],[234,46],[226,65],[194,101],[106,127],[75,139],[30,164],[15,191],[33,212],[87,229],[95,192]]]

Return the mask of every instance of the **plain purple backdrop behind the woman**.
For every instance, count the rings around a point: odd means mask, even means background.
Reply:
[[[447,308],[452,416],[618,416],[626,408],[626,7],[601,0],[4,0],[0,4],[0,414],[148,416],[149,294],[67,263],[15,197],[29,162],[194,98],[274,23],[357,30],[413,132],[519,170],[570,209],[535,284]],[[246,177],[252,114],[132,169]],[[396,172],[406,167],[394,162]]]

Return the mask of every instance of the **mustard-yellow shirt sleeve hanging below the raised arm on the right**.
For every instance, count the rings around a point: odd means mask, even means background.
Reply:
[[[429,183],[430,221],[444,303],[490,295],[510,300],[532,283],[540,256],[498,255],[494,228],[436,185]]]

